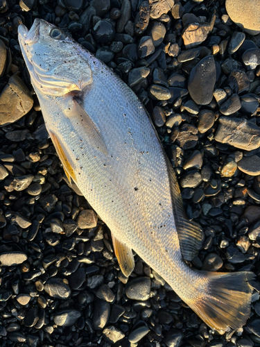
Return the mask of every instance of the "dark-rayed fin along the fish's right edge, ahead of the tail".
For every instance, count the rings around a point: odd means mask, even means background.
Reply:
[[[168,176],[171,186],[171,197],[173,201],[173,214],[175,219],[175,225],[180,241],[180,248],[182,251],[182,257],[184,260],[193,260],[198,254],[198,251],[202,247],[204,241],[204,233],[200,226],[194,221],[189,221],[187,214],[184,211],[182,196],[180,194],[180,187],[177,183],[177,178],[173,167],[166,156],[166,162],[168,165]]]

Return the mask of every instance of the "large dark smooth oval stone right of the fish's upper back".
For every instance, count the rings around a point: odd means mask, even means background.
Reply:
[[[207,105],[213,98],[216,83],[216,65],[213,56],[207,56],[193,67],[189,75],[188,90],[198,105]]]

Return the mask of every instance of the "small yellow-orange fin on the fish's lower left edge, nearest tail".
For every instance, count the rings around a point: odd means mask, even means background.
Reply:
[[[135,269],[135,259],[132,255],[132,249],[119,242],[114,236],[112,236],[112,239],[114,253],[119,261],[120,269],[125,277],[129,277],[130,273]]]

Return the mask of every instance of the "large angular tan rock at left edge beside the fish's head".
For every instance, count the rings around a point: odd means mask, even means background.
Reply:
[[[0,94],[0,126],[11,124],[33,107],[33,96],[18,76],[12,75]]]

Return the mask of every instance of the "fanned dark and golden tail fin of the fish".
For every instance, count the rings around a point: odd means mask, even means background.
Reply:
[[[196,302],[187,302],[200,318],[220,334],[241,328],[250,316],[255,275],[252,272],[211,273],[203,271],[207,287]]]

